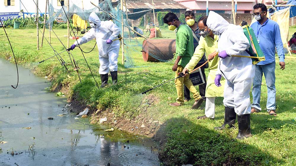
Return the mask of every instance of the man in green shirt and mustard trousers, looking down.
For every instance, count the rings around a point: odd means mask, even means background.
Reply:
[[[163,17],[163,22],[168,24],[168,29],[176,31],[176,61],[173,65],[173,71],[176,72],[175,77],[178,77],[178,73],[181,73],[187,63],[191,60],[194,52],[193,36],[191,29],[179,21],[178,17],[174,13],[168,13]],[[185,77],[177,78],[175,85],[177,89],[178,98],[175,103],[171,103],[171,106],[182,106],[184,104],[184,84],[193,93],[195,100],[192,109],[198,109],[202,104],[202,97],[193,86],[189,75]]]

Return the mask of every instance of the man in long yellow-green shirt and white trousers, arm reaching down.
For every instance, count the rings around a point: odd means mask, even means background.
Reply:
[[[219,57],[214,55],[218,48],[218,36],[214,35],[212,30],[207,27],[207,16],[200,17],[197,24],[201,30],[199,45],[196,47],[193,56],[189,63],[185,66],[183,73],[193,70],[194,66],[201,60],[204,53],[208,56],[209,62],[209,75],[207,77],[207,86],[205,91],[206,104],[205,115],[199,116],[198,119],[213,119],[215,117],[215,97],[223,97],[223,89],[215,85],[214,79],[218,68]],[[221,85],[224,86],[225,81],[221,81]]]

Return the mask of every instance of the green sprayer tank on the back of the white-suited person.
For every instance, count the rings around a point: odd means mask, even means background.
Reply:
[[[257,38],[255,36],[255,33],[251,27],[249,27],[248,23],[243,20],[241,23],[242,29],[244,30],[244,34],[248,38],[250,42],[250,47],[246,51],[250,54],[250,56],[253,57],[264,57],[264,54],[259,46],[259,43],[257,41]],[[263,61],[264,59],[257,59],[257,58],[252,58],[253,64],[257,64],[260,61]]]

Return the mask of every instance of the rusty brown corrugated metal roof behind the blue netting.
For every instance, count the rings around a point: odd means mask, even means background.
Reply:
[[[128,9],[152,9],[152,3],[126,3]],[[154,9],[187,9],[178,3],[154,3]]]

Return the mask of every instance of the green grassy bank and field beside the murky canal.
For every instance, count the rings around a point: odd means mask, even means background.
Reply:
[[[168,105],[176,98],[173,81],[142,96],[141,92],[172,79],[174,72],[171,70],[171,63],[144,62],[140,52],[141,46],[130,46],[126,50],[133,57],[136,67],[125,68],[119,64],[119,84],[98,89],[78,48],[72,53],[80,67],[82,83],[73,71],[67,54],[63,54],[62,57],[70,73],[59,65],[56,58],[38,64],[39,61],[52,56],[53,51],[45,40],[44,46],[39,51],[36,50],[36,29],[7,29],[7,31],[18,63],[33,69],[36,75],[51,78],[52,90],[68,92],[70,98],[99,109],[100,111],[93,115],[94,121],[108,116],[108,122],[117,127],[129,132],[155,136],[161,141],[160,159],[165,165],[296,165],[294,146],[296,58],[294,57],[286,57],[286,69],[283,71],[279,69],[278,59],[276,61],[278,116],[269,116],[266,110],[264,111],[267,90],[263,78],[261,95],[263,111],[251,115],[253,137],[236,140],[233,138],[237,135],[237,129],[219,132],[213,129],[214,126],[221,125],[224,120],[223,98],[216,99],[214,120],[197,120],[197,116],[204,114],[204,103],[199,110],[191,109],[193,101],[178,108]],[[62,42],[67,43],[67,39],[63,37],[66,30],[55,31]],[[167,33],[166,37],[173,36],[174,33],[166,29],[162,31]],[[74,40],[70,40],[70,43],[73,42]],[[84,51],[89,51],[94,44],[95,41],[90,41],[82,48]],[[52,34],[52,46],[57,52],[64,50],[54,34]],[[3,29],[0,29],[0,56],[7,59],[12,56]],[[97,48],[85,56],[97,82],[100,83]],[[118,59],[121,59],[121,53]],[[13,62],[13,58],[10,61]],[[140,127],[141,124],[144,125],[143,128]]]

